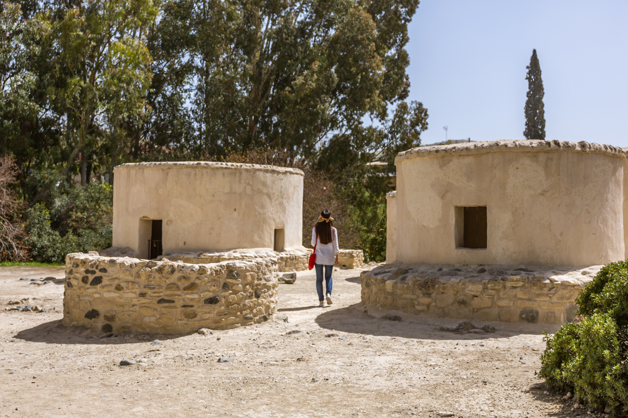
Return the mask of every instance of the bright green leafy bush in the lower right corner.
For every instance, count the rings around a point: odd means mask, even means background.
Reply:
[[[628,262],[605,265],[580,292],[579,323],[546,335],[538,375],[595,409],[628,412]]]

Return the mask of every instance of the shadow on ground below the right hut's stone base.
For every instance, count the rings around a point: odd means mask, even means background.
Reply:
[[[415,338],[417,340],[424,338],[430,340],[485,340],[488,338],[509,338],[521,334],[540,335],[543,331],[546,331],[543,325],[490,323],[497,328],[494,333],[452,333],[440,331],[440,327],[443,325],[455,326],[463,321],[470,321],[478,327],[487,323],[472,319],[430,317],[424,317],[424,319],[419,316],[413,316],[412,320],[391,321],[389,319],[375,318],[365,313],[362,309],[360,304],[354,304],[347,308],[329,309],[318,315],[315,321],[321,328],[327,330],[362,335]],[[511,328],[508,328],[509,326]]]

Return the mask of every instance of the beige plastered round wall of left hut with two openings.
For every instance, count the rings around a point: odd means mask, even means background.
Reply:
[[[122,164],[114,170],[113,246],[148,257],[150,220],[163,222],[163,253],[302,248],[303,172],[211,162]]]

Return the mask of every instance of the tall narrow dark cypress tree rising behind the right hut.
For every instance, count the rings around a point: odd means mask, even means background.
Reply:
[[[526,130],[523,131],[526,139],[545,139],[545,110],[543,109],[543,80],[541,79],[541,65],[532,50],[530,65],[528,65],[528,100],[526,100]]]

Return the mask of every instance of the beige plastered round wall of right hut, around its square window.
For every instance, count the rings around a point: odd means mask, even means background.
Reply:
[[[396,260],[528,265],[622,260],[624,164],[621,149],[587,142],[476,142],[400,153]],[[487,206],[487,249],[457,247],[457,206]]]

